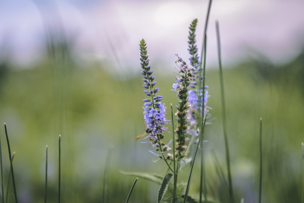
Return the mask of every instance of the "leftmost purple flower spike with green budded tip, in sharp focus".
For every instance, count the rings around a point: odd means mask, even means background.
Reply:
[[[149,65],[149,59],[147,56],[147,44],[145,40],[140,41],[140,65],[142,67],[141,74],[143,75],[143,87],[146,89],[143,92],[149,96],[149,99],[144,99],[145,102],[143,105],[143,114],[146,124],[146,133],[149,138],[150,143],[153,145],[156,150],[160,150],[161,146],[163,146],[163,151],[169,150],[170,148],[161,143],[161,139],[164,138],[162,133],[167,130],[164,127],[165,123],[168,121],[165,118],[166,107],[160,101],[162,100],[162,96],[157,96],[157,92],[159,88],[155,88],[156,81],[154,81],[155,76],[152,75],[153,70]]]

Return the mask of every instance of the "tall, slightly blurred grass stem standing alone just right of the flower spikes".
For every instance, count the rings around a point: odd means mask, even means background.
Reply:
[[[228,136],[226,129],[226,105],[225,105],[225,94],[224,94],[224,78],[222,71],[222,59],[221,59],[221,43],[219,38],[219,22],[216,20],[216,37],[217,37],[217,48],[218,48],[218,57],[219,57],[219,76],[220,76],[220,87],[221,87],[221,101],[222,101],[222,112],[223,112],[223,133],[225,140],[225,150],[226,150],[226,162],[227,162],[227,171],[228,171],[228,183],[229,183],[229,196],[230,202],[235,202],[233,197],[233,188],[232,188],[232,178],[231,178],[231,168],[230,168],[230,156],[229,156],[229,145],[228,145]]]

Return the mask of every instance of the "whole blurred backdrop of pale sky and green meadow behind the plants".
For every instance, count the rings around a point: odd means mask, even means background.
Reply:
[[[223,39],[235,200],[258,202],[262,118],[262,202],[300,202],[302,3],[214,1],[212,6],[210,22],[219,19]],[[164,174],[165,163],[154,162],[157,157],[149,152],[152,147],[141,143],[147,140],[135,141],[145,131],[142,100],[146,95],[138,43],[142,37],[147,41],[156,86],[171,120],[170,103],[175,110],[177,101],[171,90],[174,54],[184,60],[189,57],[185,55],[187,26],[196,17],[201,44],[206,8],[207,1],[195,0],[0,2],[0,138],[5,192],[9,156],[4,123],[11,150],[16,152],[13,166],[22,203],[44,200],[46,145],[47,202],[58,202],[59,135],[62,202],[125,202],[136,177],[121,170]],[[219,68],[214,65],[216,35],[211,23],[206,85],[212,124],[205,128],[206,182],[209,198],[227,202],[225,181],[217,175],[219,167],[226,174],[226,161]],[[172,131],[171,125],[167,127]],[[169,142],[171,134],[165,136]],[[109,176],[104,176],[107,155]],[[199,194],[199,166],[197,163],[192,173],[189,195],[193,198]],[[188,171],[189,166],[183,168],[179,181],[187,181]],[[104,182],[107,188],[103,188]],[[129,202],[155,202],[158,188],[140,178]],[[14,202],[12,190],[10,183],[9,202]]]

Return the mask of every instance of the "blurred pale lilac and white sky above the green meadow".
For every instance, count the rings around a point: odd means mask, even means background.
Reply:
[[[198,18],[201,49],[208,1],[188,0],[4,0],[0,1],[0,56],[31,65],[45,54],[47,30],[73,42],[75,58],[112,67],[139,68],[144,38],[151,61],[174,67],[187,59],[188,26]],[[264,54],[284,63],[304,47],[304,1],[215,0],[207,30],[207,64],[217,65],[215,20],[219,20],[224,66]],[[287,61],[286,61],[287,60]],[[111,67],[111,68],[112,68]],[[121,70],[121,69],[120,69]]]

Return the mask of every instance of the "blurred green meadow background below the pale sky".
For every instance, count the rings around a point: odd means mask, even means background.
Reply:
[[[224,69],[227,127],[236,200],[258,199],[259,122],[263,118],[263,191],[265,202],[299,202],[301,193],[301,142],[303,142],[303,57],[282,67],[252,60]],[[174,61],[173,61],[174,62]],[[172,63],[173,64],[173,63]],[[172,67],[174,64],[172,65]],[[225,66],[225,65],[224,65]],[[65,68],[64,71],[60,68]],[[135,141],[144,132],[140,74],[131,79],[113,77],[107,65],[55,66],[46,60],[29,69],[9,69],[1,75],[0,121],[7,124],[11,150],[16,151],[14,170],[20,202],[44,198],[44,152],[48,145],[48,202],[57,201],[57,141],[61,134],[62,201],[100,202],[106,149],[114,144],[109,172],[108,199],[125,201],[133,177],[118,170],[164,173],[149,144]],[[208,106],[212,124],[205,128],[208,195],[223,194],[214,172],[211,151],[224,166],[224,143],[217,69],[207,67]],[[155,69],[159,94],[164,96],[170,119],[170,103],[177,100],[172,74]],[[174,108],[175,109],[175,108]],[[4,135],[4,128],[0,135]],[[171,127],[169,128],[171,129]],[[168,140],[171,134],[166,134]],[[3,138],[2,138],[3,139]],[[8,157],[2,146],[3,157]],[[4,171],[9,162],[4,158]],[[199,166],[193,176],[199,176]],[[188,169],[184,169],[185,171]],[[223,167],[225,170],[225,167]],[[186,181],[186,179],[185,179]],[[138,180],[130,201],[153,202],[158,186]],[[190,196],[198,193],[192,180]],[[213,194],[213,195],[212,195]],[[10,197],[13,198],[13,197]],[[28,201],[27,201],[28,200]]]

